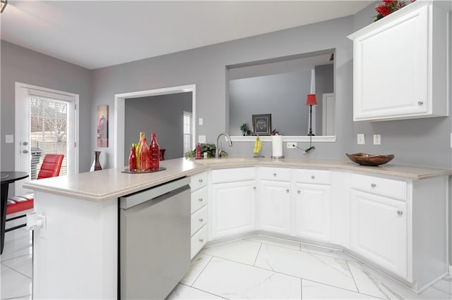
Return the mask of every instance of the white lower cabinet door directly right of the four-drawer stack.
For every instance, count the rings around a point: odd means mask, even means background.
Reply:
[[[212,238],[256,229],[254,180],[212,185]]]

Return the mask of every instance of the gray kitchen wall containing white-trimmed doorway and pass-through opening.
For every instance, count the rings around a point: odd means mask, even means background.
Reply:
[[[352,139],[352,42],[347,39],[354,31],[353,18],[338,18],[313,25],[295,27],[280,32],[258,35],[232,42],[205,46],[176,54],[143,59],[131,63],[93,70],[93,104],[114,107],[114,94],[179,85],[196,85],[196,117],[203,118],[196,134],[206,135],[207,142],[215,142],[218,134],[228,129],[226,110],[226,65],[267,60],[282,56],[305,54],[325,49],[335,51],[335,95],[337,119],[335,143],[316,145],[312,157],[344,158],[350,151]],[[111,112],[109,125],[114,124]],[[95,113],[91,115],[95,124]],[[198,122],[196,122],[197,124]],[[112,127],[110,127],[112,132]],[[110,139],[114,144],[114,137]],[[95,135],[91,136],[95,145]],[[252,155],[254,142],[235,143],[226,151],[232,156]],[[309,143],[299,143],[306,147]],[[112,147],[108,151],[108,165],[114,165]],[[263,155],[271,151],[264,143]],[[284,149],[285,156],[300,157],[299,151]]]

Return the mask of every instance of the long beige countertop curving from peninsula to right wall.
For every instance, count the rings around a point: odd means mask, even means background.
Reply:
[[[422,180],[429,177],[452,175],[452,169],[447,168],[429,168],[394,163],[369,167],[357,165],[345,159],[333,158],[272,159],[234,157],[201,160],[175,158],[162,161],[161,165],[167,169],[156,173],[127,174],[121,172],[126,169],[126,167],[123,167],[33,180],[24,183],[23,187],[38,192],[49,192],[75,199],[99,202],[117,199],[120,196],[148,189],[180,177],[200,173],[203,170],[219,168],[273,166],[280,168],[350,170],[369,175],[399,177],[405,180]]]

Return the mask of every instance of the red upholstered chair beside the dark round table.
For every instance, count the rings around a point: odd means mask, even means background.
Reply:
[[[44,156],[44,161],[42,161],[40,173],[37,174],[37,179],[58,176],[59,170],[61,169],[61,163],[63,163],[63,158],[63,154],[46,154],[46,156]],[[35,196],[33,194],[8,198],[6,215],[10,218],[6,219],[6,222],[25,217],[25,213],[33,208],[34,201]],[[25,226],[25,224],[14,226],[6,229],[5,232],[16,230]]]

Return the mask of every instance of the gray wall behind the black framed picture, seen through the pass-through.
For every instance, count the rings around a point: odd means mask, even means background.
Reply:
[[[271,114],[280,135],[307,135],[310,87],[311,70],[230,80],[230,135],[242,135],[242,123],[252,130],[252,115],[262,113]]]

